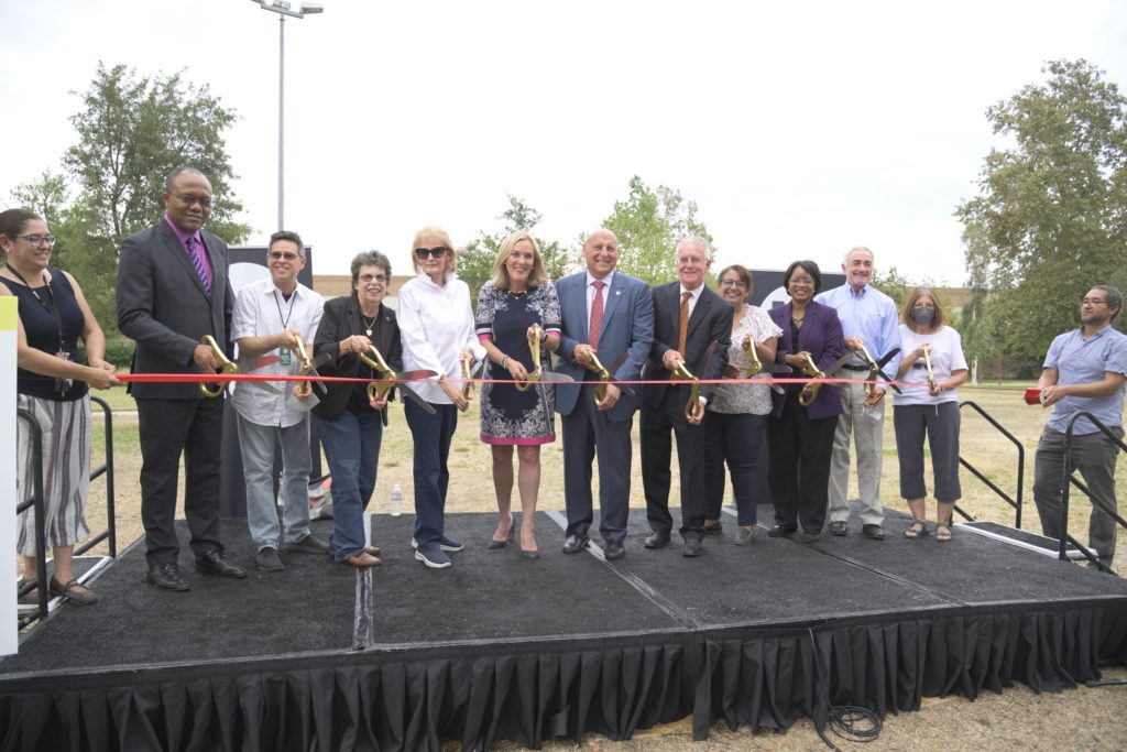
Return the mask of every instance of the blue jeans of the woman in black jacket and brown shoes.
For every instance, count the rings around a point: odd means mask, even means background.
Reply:
[[[375,490],[383,423],[379,413],[345,410],[336,421],[313,416],[332,474],[332,537],[329,551],[344,561],[364,550],[364,510]]]

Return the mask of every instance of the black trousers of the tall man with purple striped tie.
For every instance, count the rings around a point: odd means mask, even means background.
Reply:
[[[184,516],[198,556],[223,550],[219,540],[220,445],[223,399],[139,399],[141,521],[149,565],[176,563],[180,547],[172,522],[180,453]]]

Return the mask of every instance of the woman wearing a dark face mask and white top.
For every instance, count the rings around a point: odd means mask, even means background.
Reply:
[[[915,521],[904,537],[928,536],[923,479],[923,439],[931,446],[935,476],[935,540],[951,540],[951,515],[962,496],[959,486],[959,396],[956,389],[967,380],[967,361],[959,333],[943,325],[943,308],[930,287],[920,286],[904,302],[900,325],[903,382],[893,407],[896,453],[900,462],[900,496]],[[931,371],[928,370],[929,361]]]

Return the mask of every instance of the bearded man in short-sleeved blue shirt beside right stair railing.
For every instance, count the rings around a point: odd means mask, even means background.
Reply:
[[[1127,381],[1127,335],[1111,326],[1122,310],[1124,297],[1115,287],[1098,285],[1088,291],[1080,307],[1079,329],[1059,335],[1049,345],[1037,386],[1041,405],[1053,415],[1037,444],[1033,461],[1033,501],[1041,530],[1061,538],[1061,480],[1064,470],[1065,432],[1068,421],[1088,412],[1120,442],[1124,437],[1124,383]],[[1115,512],[1116,459],[1119,448],[1086,417],[1072,427],[1070,463],[1079,469],[1092,494],[1089,548],[1100,564],[1111,566],[1116,552],[1116,521],[1101,506]],[[1079,495],[1072,495],[1076,498]]]

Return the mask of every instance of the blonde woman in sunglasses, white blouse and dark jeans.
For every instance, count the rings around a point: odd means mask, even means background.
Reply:
[[[399,291],[396,318],[403,343],[403,369],[429,370],[437,380],[411,384],[431,404],[429,414],[411,400],[403,413],[415,442],[415,558],[428,567],[451,565],[449,551],[460,551],[461,541],[444,529],[450,470],[446,460],[458,427],[458,413],[469,400],[462,395],[461,361],[485,356],[473,331],[470,289],[454,274],[454,244],[445,230],[427,225],[415,233],[411,256],[418,273]]]

